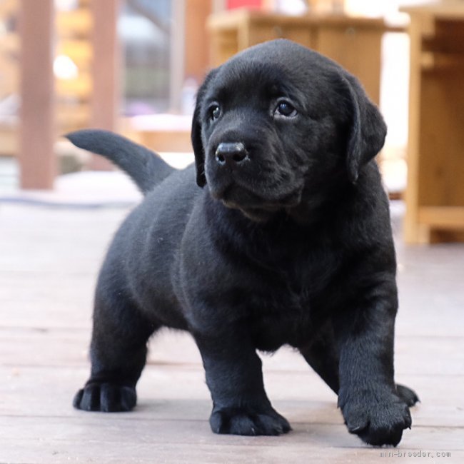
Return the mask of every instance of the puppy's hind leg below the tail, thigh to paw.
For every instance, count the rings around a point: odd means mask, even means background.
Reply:
[[[131,410],[146,362],[146,344],[156,328],[123,293],[110,296],[109,291],[97,288],[91,376],[76,393],[74,407],[104,412]]]

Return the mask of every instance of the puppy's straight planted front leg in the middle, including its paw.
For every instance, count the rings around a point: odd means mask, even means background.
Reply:
[[[224,334],[195,338],[213,399],[210,425],[214,433],[280,435],[291,430],[268,400],[261,359],[253,346]]]

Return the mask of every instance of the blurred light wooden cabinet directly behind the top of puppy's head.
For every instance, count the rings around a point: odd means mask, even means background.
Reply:
[[[338,61],[358,76],[373,101],[379,101],[380,41],[385,31],[392,30],[383,19],[333,14],[288,16],[238,9],[210,16],[208,30],[212,66],[248,46],[291,39]]]

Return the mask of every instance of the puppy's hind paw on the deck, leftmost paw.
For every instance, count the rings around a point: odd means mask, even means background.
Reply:
[[[137,402],[136,389],[126,385],[89,382],[74,397],[74,408],[117,413],[131,410]]]

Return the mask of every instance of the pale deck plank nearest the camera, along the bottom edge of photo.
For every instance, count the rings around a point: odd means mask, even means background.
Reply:
[[[430,439],[433,440],[433,431],[430,433]],[[277,441],[280,440],[280,438],[274,438],[274,440]],[[315,462],[333,464],[372,464],[379,461],[381,462],[382,460],[392,462],[392,460],[398,460],[398,458],[407,460],[408,463],[423,463],[424,460],[439,462],[436,460],[434,461],[433,458],[436,458],[437,453],[440,452],[430,451],[430,448],[425,447],[422,448],[423,457],[415,458],[413,457],[413,453],[415,453],[415,455],[421,453],[421,450],[418,448],[400,448],[400,450],[360,448],[360,450],[356,450],[354,448],[316,448],[303,444],[299,445],[298,448],[292,448],[288,444],[285,447],[279,447],[278,445],[259,446],[250,445],[248,443],[243,445],[217,445],[214,447],[209,447],[202,443],[196,443],[195,445],[184,445],[182,443],[161,445],[131,443],[130,447],[128,447],[128,445],[124,443],[126,448],[122,448],[122,446],[117,443],[99,444],[94,441],[89,443],[84,440],[78,443],[72,443],[69,440],[61,440],[56,446],[50,449],[50,446],[47,448],[46,440],[44,440],[44,442],[45,443],[30,443],[26,440],[15,440],[14,443],[6,443],[6,453],[8,453],[6,455],[10,458],[9,462],[25,462],[24,460],[12,460],[16,456],[22,456],[18,450],[16,450],[16,452],[15,450],[11,451],[13,446],[16,446],[20,450],[26,450],[26,462],[30,464],[55,464],[69,462],[69,460],[72,460],[74,463],[89,463],[93,460],[93,456],[101,455],[103,447],[106,447],[106,455],[108,455],[109,458],[108,460],[99,460],[99,463],[111,462],[112,464],[151,464],[153,462],[166,464],[241,464],[243,462],[251,464],[307,464],[308,456],[311,456]],[[130,448],[131,451],[129,451],[128,448]],[[88,454],[84,452],[84,449]],[[403,454],[403,450],[405,454]],[[380,455],[387,456],[387,453],[391,453],[391,458],[380,458]],[[440,460],[460,463],[464,459],[464,453],[460,450],[453,450],[445,453],[450,453],[453,460],[450,458],[440,458]],[[428,458],[426,458],[427,455]]]

